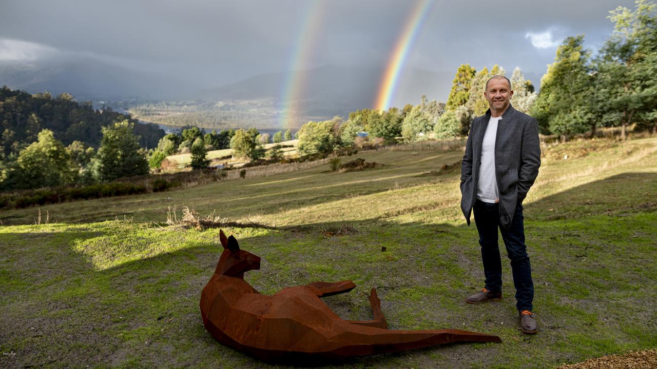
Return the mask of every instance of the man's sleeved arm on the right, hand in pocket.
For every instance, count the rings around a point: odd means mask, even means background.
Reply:
[[[518,201],[524,200],[532,187],[541,166],[541,142],[538,139],[538,123],[530,119],[522,132],[520,171],[518,171]]]

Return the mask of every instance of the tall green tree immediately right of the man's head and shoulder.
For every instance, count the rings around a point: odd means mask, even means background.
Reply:
[[[532,107],[532,116],[544,133],[583,133],[591,121],[587,93],[591,91],[590,52],[583,48],[584,36],[566,37],[556,50],[553,64],[541,78],[541,93]]]

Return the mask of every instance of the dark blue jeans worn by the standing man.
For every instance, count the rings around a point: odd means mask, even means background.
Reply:
[[[474,221],[479,232],[479,244],[482,246],[482,261],[486,276],[486,290],[502,290],[502,261],[497,246],[497,229],[507,246],[507,255],[511,259],[513,284],[516,287],[516,307],[518,311],[532,311],[533,283],[532,265],[525,246],[525,230],[522,223],[522,205],[516,206],[516,213],[509,229],[499,225],[499,206],[476,200],[474,203]]]

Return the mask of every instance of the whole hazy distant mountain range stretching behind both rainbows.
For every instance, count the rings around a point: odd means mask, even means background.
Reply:
[[[380,67],[327,65],[300,72],[292,106],[308,117],[346,116],[363,108],[374,108],[383,76]],[[270,73],[198,91],[168,76],[143,73],[93,58],[59,60],[47,63],[0,63],[0,85],[30,93],[67,92],[78,100],[186,100],[191,104],[208,102],[256,101],[281,110],[288,73]],[[447,100],[454,72],[435,72],[407,68],[399,77],[392,106],[417,104],[420,96]],[[538,76],[528,74],[538,85]],[[288,102],[289,103],[289,102]],[[245,105],[246,106],[246,105]],[[252,109],[251,109],[252,110]],[[274,114],[274,113],[272,113]]]

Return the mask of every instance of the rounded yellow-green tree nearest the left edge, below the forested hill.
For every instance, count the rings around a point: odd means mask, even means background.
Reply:
[[[77,175],[64,145],[49,129],[39,132],[37,141],[20,152],[17,164],[19,188],[66,185]]]

